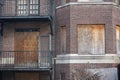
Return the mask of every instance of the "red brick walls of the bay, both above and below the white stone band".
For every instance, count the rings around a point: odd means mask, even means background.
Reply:
[[[73,0],[72,0],[73,1]],[[71,3],[72,3],[71,1]],[[104,0],[110,2],[111,0]],[[76,1],[73,1],[76,2]],[[57,26],[56,33],[56,56],[77,54],[78,53],[78,41],[77,41],[77,25],[105,25],[105,54],[117,54],[116,53],[116,25],[120,25],[119,7],[113,3],[102,4],[88,4],[88,3],[73,3],[61,5],[59,0],[57,1],[56,15]],[[62,26],[66,26],[66,54],[60,52],[60,29]],[[59,57],[58,57],[59,58]],[[71,58],[71,60],[73,60]],[[56,80],[61,80],[61,73],[65,73],[65,80],[73,80],[71,73],[74,69],[80,69],[82,66],[87,68],[99,69],[99,68],[116,68],[118,63],[78,63],[73,64],[56,64]],[[85,66],[85,67],[86,67]]]

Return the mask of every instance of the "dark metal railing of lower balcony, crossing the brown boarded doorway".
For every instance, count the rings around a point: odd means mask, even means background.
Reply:
[[[1,51],[0,69],[50,69],[50,51]]]

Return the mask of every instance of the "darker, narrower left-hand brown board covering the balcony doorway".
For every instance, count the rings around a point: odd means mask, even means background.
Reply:
[[[22,32],[15,32],[14,36],[14,50],[17,51],[15,52],[15,65],[20,65],[24,63],[25,57],[22,52],[18,51],[23,51],[24,50],[24,33]]]

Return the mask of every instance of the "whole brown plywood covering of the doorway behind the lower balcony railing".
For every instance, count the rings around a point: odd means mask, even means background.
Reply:
[[[38,62],[39,32],[15,32],[15,64],[32,66]]]

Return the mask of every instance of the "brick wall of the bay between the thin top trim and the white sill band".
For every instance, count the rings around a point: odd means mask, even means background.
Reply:
[[[115,53],[115,30],[112,24],[112,5],[71,5],[57,9],[56,45],[60,44],[60,27],[66,25],[67,53],[77,53],[77,25],[105,25],[106,53]],[[59,54],[59,47],[56,50]]]

